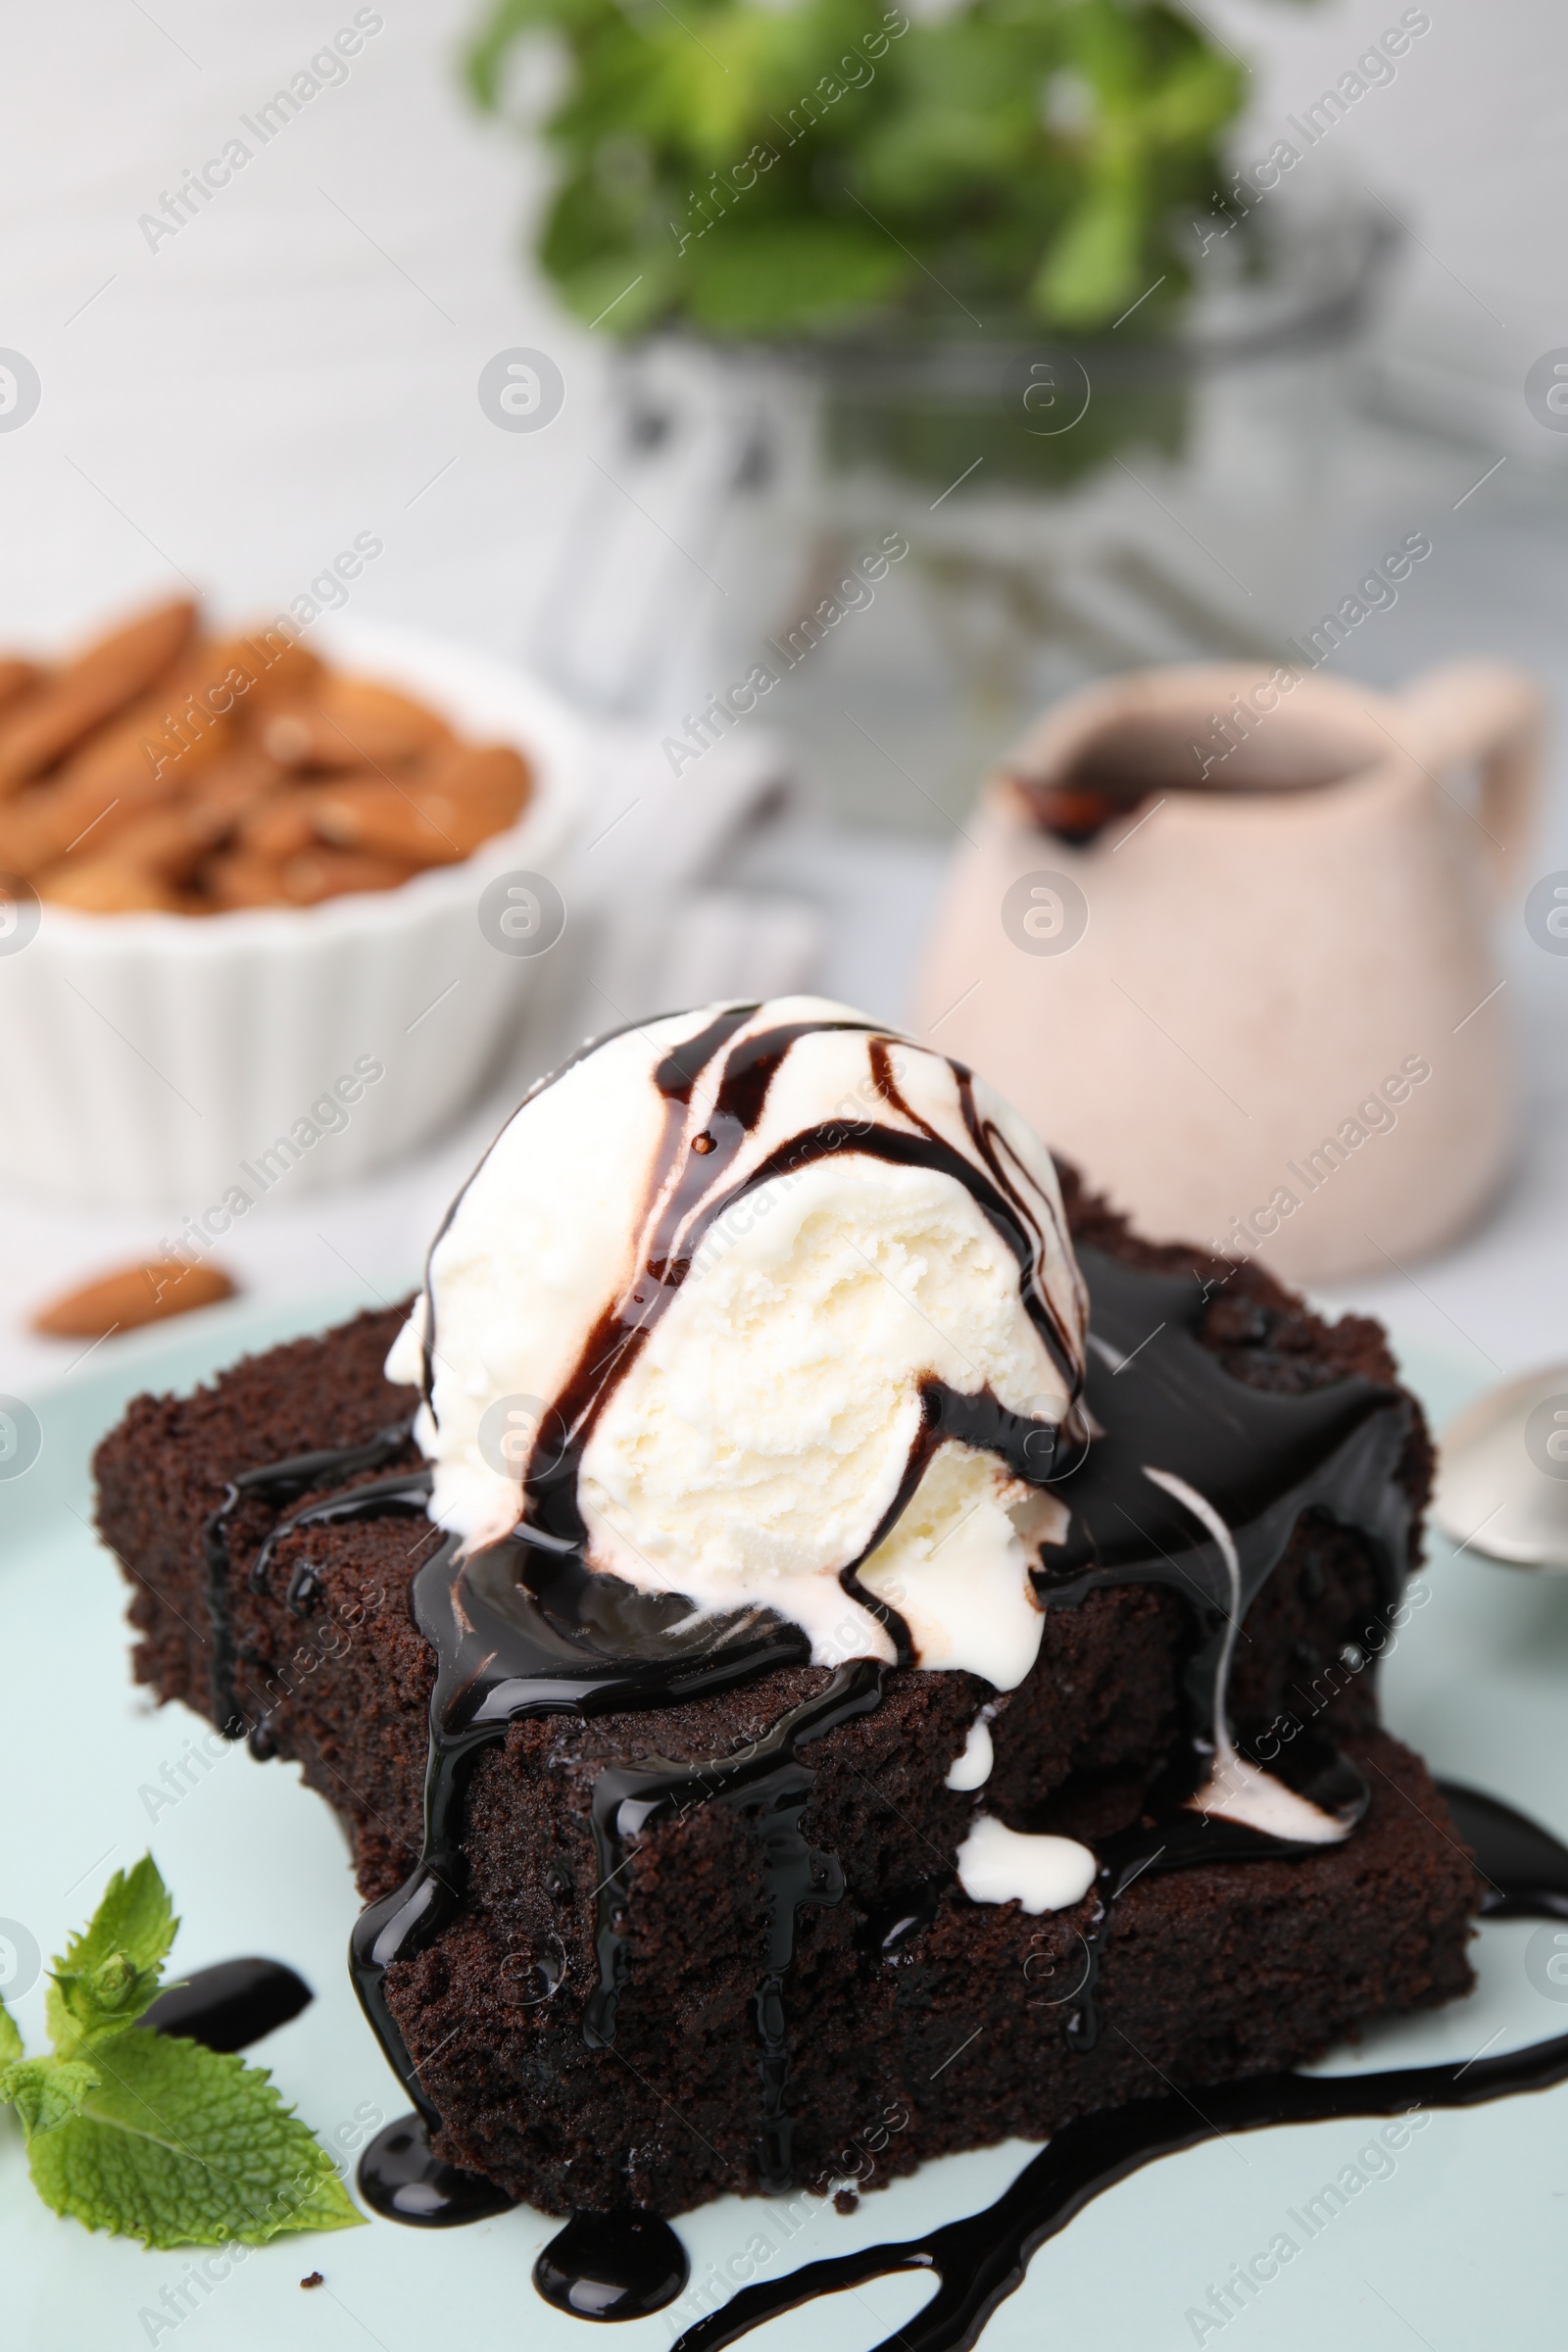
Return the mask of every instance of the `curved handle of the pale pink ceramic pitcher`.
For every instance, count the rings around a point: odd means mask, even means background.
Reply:
[[[1547,701],[1533,677],[1502,661],[1458,661],[1418,677],[1396,701],[1399,736],[1439,779],[1465,760],[1481,767],[1474,809],[1493,884],[1505,898],[1523,870],[1547,750]]]

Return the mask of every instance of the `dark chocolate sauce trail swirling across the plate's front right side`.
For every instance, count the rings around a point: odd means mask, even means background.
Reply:
[[[1486,1905],[1490,1917],[1568,1917],[1568,1846],[1495,1797],[1443,1783],[1439,1788],[1493,1889],[1495,1900]],[[1568,2034],[1465,2065],[1389,2067],[1380,2074],[1260,2074],[1192,2096],[1105,2107],[1065,2124],[983,2213],[926,2237],[867,2246],[806,2263],[783,2279],[743,2286],[722,2310],[686,2328],[672,2352],[719,2352],[780,2312],[900,2270],[933,2272],[940,2284],[931,2303],[905,2319],[877,2352],[966,2352],[997,2305],[1023,2286],[1030,2258],[1046,2239],[1157,2157],[1201,2147],[1234,2131],[1406,2114],[1413,2107],[1479,2107],[1493,2098],[1549,2091],[1559,2082],[1568,2082]]]

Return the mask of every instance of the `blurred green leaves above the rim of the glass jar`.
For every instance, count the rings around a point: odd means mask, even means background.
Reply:
[[[527,42],[564,64],[538,252],[621,336],[1093,332],[1145,294],[1147,332],[1244,92],[1164,0],[496,0],[482,106]]]

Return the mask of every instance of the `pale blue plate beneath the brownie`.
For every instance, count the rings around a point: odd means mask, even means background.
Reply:
[[[292,1771],[254,1764],[242,1748],[202,1745],[207,1726],[179,1708],[155,1710],[134,1689],[125,1588],[87,1526],[87,1461],[127,1397],[183,1388],[242,1348],[322,1329],[350,1305],[315,1298],[266,1315],[214,1308],[174,1331],[125,1341],[118,1355],[106,1348],[92,1369],[38,1399],[42,1454],[24,1477],[0,1484],[0,1915],[21,1922],[49,1955],[87,1917],[108,1872],[150,1844],[183,1915],[183,1969],[266,1952],[315,1985],[310,2009],[259,2056],[353,2176],[357,2145],[404,2100],[348,1987],[343,1952],[357,1905],[343,1839]],[[1474,1385],[1418,1350],[1408,1376],[1436,1423]],[[1439,1771],[1568,1832],[1568,1581],[1455,1559],[1434,1543],[1427,1588],[1427,1604],[1410,1616],[1385,1670],[1392,1729]],[[174,1785],[188,1783],[174,1804],[160,1802],[167,1764]],[[1528,1922],[1488,1926],[1472,1999],[1378,2030],[1335,2067],[1469,2058],[1566,2032],[1568,2006],[1526,1976],[1533,1933]],[[14,2006],[28,2046],[42,2049],[42,1985]],[[1302,2241],[1253,2305],[1222,2328],[1199,2328],[1190,2312],[1208,2288],[1281,2230],[1300,2241],[1288,2216],[1366,2143],[1366,2124],[1314,2124],[1152,2164],[1041,2251],[1023,2291],[994,2317],[985,2352],[1157,2352],[1199,2340],[1222,2340],[1225,2352],[1535,2352],[1563,2343],[1568,2086],[1434,2114],[1396,2169]],[[625,2326],[618,2345],[665,2347],[745,2277],[912,2237],[990,2204],[1027,2154],[1013,2143],[950,2157],[867,2197],[853,2218],[825,2209],[795,2230],[769,2204],[705,2206],[679,2223],[693,2279],[684,2305]],[[527,2211],[430,2237],[374,2220],[367,2230],[282,2239],[219,2284],[202,2284],[197,2251],[143,2253],[47,2213],[5,2119],[0,2336],[16,2352],[129,2352],[146,2343],[176,2343],[179,2352],[277,2352],[284,2343],[306,2352],[590,2352],[585,2326],[548,2310],[529,2286],[534,2256],[557,2227]],[[324,2286],[301,2296],[299,2279],[310,2270],[324,2272]],[[172,2303],[160,2300],[165,2288]],[[778,2319],[752,2343],[757,2352],[870,2352],[929,2293],[929,2281],[882,2281]],[[186,2317],[172,2324],[181,2300]]]

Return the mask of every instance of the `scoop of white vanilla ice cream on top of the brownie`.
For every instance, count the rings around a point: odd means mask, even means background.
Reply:
[[[639,1341],[578,1463],[595,1566],[701,1611],[769,1606],[811,1635],[823,1663],[891,1658],[886,1628],[839,1585],[856,1566],[903,1616],[922,1665],[1013,1689],[1044,1623],[1030,1559],[1060,1531],[1060,1505],[957,1439],[936,1444],[905,1508],[893,1505],[924,1383],[990,1390],[1032,1421],[1067,1414],[1067,1378],[1025,1308],[1034,1282],[1081,1369],[1084,1294],[1048,1152],[976,1082],[980,1145],[945,1056],[813,997],[750,1011],[696,1073],[691,1101],[670,1103],[656,1070],[717,1011],[590,1049],[524,1101],[458,1197],[428,1279],[418,1437],[435,1463],[433,1517],[470,1543],[517,1522],[531,1432],[550,1423],[595,1327],[604,1352],[602,1317],[621,1310]],[[726,1065],[771,1033],[788,1044],[729,1155]],[[790,1164],[790,1145],[825,1127],[839,1148]],[[882,1157],[877,1134],[893,1150],[910,1138],[912,1157]],[[985,1183],[994,1155],[1032,1265],[957,1174],[919,1164],[929,1143]],[[677,1183],[701,1204],[672,1251],[689,1258],[684,1277],[661,1287],[646,1258]],[[421,1301],[388,1376],[418,1378],[425,1312]],[[496,1439],[508,1416],[510,1456]]]

